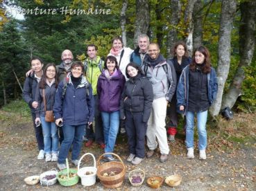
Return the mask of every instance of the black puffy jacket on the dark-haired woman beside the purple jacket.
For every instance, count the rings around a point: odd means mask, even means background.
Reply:
[[[125,111],[143,112],[143,122],[148,122],[153,102],[151,82],[140,73],[135,78],[129,78],[124,86],[120,102],[120,118]]]

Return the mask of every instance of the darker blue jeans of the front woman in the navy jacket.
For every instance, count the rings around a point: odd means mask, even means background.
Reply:
[[[69,154],[69,149],[73,143],[71,160],[78,160],[82,143],[85,125],[63,125],[64,140],[60,145],[58,163],[63,164]]]

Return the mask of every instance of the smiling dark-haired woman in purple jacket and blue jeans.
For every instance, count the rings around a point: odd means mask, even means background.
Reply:
[[[117,59],[114,56],[108,56],[97,84],[99,110],[103,120],[105,152],[114,151],[114,143],[119,129],[120,99],[125,82],[126,78],[119,70]],[[111,155],[105,155],[104,159],[105,161],[114,161]]]

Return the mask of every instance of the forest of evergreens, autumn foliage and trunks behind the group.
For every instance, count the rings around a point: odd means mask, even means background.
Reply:
[[[24,19],[15,19],[22,10]],[[172,57],[178,40],[186,42],[190,55],[199,44],[209,48],[219,84],[212,116],[224,107],[254,112],[255,21],[253,0],[0,0],[0,107],[21,98],[33,55],[58,65],[66,48],[75,60],[84,60],[86,45],[96,44],[105,57],[112,37],[122,36],[134,49],[137,36],[146,33],[164,57]]]

